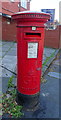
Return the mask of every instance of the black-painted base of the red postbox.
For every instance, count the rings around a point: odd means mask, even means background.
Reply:
[[[40,93],[34,95],[24,95],[17,90],[16,102],[25,109],[32,110],[38,107]]]

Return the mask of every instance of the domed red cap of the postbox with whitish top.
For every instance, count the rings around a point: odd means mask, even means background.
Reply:
[[[44,23],[50,19],[50,14],[38,11],[23,11],[17,12],[12,15],[12,19],[18,21],[24,19],[24,21],[31,21],[31,20],[40,20]]]

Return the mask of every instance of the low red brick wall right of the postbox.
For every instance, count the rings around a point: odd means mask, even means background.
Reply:
[[[46,30],[45,29],[45,39],[44,46],[51,48],[60,48],[61,47],[61,27],[57,26],[55,30]]]

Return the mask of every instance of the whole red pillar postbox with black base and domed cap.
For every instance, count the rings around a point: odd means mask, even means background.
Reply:
[[[12,19],[17,21],[17,98],[34,106],[40,93],[44,23],[50,15],[26,11],[12,15]]]

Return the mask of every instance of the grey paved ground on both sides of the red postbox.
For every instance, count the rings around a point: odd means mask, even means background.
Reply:
[[[0,91],[2,90],[3,93],[6,92],[8,81],[12,75],[14,75],[13,83],[16,85],[16,51],[17,43],[8,41],[1,43],[0,41],[0,70],[2,72],[0,74],[0,78],[2,78]],[[58,52],[59,49],[44,48],[42,76],[46,82],[41,84],[40,105],[38,110],[34,112],[24,111],[24,118],[59,117],[59,76],[61,76],[61,72],[59,73],[59,59],[55,60]]]

